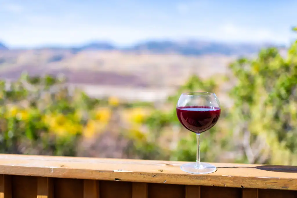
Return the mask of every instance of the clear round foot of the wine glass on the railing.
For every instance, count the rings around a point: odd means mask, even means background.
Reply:
[[[191,162],[181,165],[181,170],[193,174],[208,174],[217,171],[217,167],[205,162],[201,162],[197,166],[196,162]]]

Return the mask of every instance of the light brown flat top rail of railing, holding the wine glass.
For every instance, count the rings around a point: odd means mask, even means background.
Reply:
[[[213,163],[214,173],[180,170],[184,162],[0,154],[0,173],[56,178],[297,190],[296,166]],[[293,173],[293,174],[292,174]]]

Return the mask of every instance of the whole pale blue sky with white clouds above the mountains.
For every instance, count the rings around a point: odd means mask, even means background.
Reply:
[[[296,8],[296,0],[0,0],[0,41],[9,47],[147,39],[286,44],[295,36]]]

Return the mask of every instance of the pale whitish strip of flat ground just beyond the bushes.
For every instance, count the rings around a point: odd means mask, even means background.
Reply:
[[[7,83],[14,81],[14,79],[3,79]],[[9,87],[10,84],[7,84]],[[162,102],[168,96],[174,94],[174,88],[134,88],[134,87],[119,87],[119,86],[102,86],[89,84],[75,84],[66,83],[70,91],[75,88],[81,89],[87,95],[94,98],[116,97],[125,101],[141,101],[141,102]]]

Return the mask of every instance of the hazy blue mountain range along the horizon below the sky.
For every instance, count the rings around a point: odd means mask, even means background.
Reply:
[[[128,47],[117,47],[109,42],[90,42],[86,45],[76,47],[45,47],[38,49],[52,49],[52,50],[70,50],[72,53],[78,53],[86,50],[118,50],[123,52],[133,53],[175,53],[185,56],[201,56],[207,54],[220,54],[226,56],[242,56],[257,53],[261,48],[279,47],[273,44],[249,44],[249,43],[223,43],[215,41],[202,40],[149,40],[146,42],[137,43]],[[0,49],[7,49],[0,43]],[[57,58],[59,60],[59,58]]]

